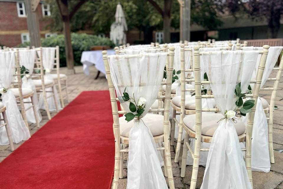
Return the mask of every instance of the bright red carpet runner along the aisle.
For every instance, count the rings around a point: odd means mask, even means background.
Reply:
[[[1,189],[108,189],[114,167],[109,91],[82,92],[0,163]]]

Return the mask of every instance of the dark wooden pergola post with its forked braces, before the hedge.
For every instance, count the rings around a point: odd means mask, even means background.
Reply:
[[[63,22],[67,68],[69,70],[72,69],[73,71],[74,71],[74,55],[73,55],[73,48],[71,43],[70,20],[86,1],[87,0],[77,1],[75,6],[69,12],[68,0],[56,0],[61,15],[61,19]]]

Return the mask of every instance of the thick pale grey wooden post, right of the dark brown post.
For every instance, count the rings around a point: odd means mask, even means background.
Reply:
[[[178,2],[180,4],[180,40],[190,41],[191,1],[178,0]]]

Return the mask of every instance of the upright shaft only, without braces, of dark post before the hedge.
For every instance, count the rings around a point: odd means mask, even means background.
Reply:
[[[65,54],[68,72],[74,73],[74,55],[71,43],[71,27],[67,0],[61,0],[63,30],[65,35]]]

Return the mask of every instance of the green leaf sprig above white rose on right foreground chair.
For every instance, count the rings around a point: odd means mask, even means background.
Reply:
[[[236,88],[235,88],[235,95],[237,97],[237,100],[235,102],[236,104],[236,109],[239,108],[240,109],[240,113],[242,116],[246,116],[247,113],[251,112],[251,108],[254,107],[254,100],[246,100],[245,102],[243,102],[243,97],[245,97],[245,94],[247,93],[241,93],[241,82],[236,84]]]

